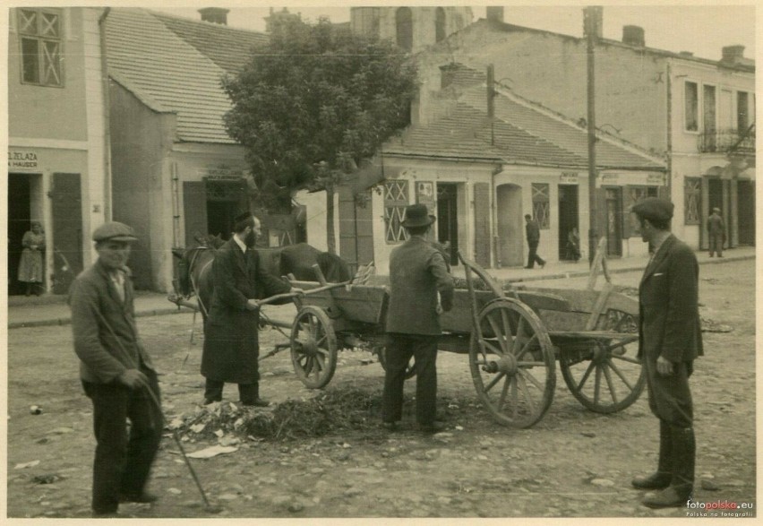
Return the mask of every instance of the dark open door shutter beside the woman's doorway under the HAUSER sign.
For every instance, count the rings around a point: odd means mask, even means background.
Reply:
[[[55,244],[53,292],[66,294],[83,266],[80,174],[53,174],[51,206]]]

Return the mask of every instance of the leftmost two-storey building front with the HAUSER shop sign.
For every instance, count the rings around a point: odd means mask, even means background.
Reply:
[[[65,293],[94,261],[90,232],[111,217],[103,8],[18,7],[8,39],[8,293],[21,237],[39,220],[44,282]]]

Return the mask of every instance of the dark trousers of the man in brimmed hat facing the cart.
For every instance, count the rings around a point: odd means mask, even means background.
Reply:
[[[411,357],[416,359],[416,421],[434,422],[437,411],[437,337],[421,334],[387,334],[387,373],[384,376],[381,418],[397,422],[403,412],[403,384]]]

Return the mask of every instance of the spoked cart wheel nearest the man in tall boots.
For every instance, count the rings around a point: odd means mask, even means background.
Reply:
[[[559,366],[564,383],[584,407],[614,413],[637,401],[647,381],[637,358],[639,329],[634,316],[613,310],[600,329],[623,332],[622,339],[591,341],[578,349],[562,347]]]

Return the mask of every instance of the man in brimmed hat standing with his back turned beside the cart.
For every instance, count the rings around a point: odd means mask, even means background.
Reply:
[[[387,310],[386,362],[382,396],[383,426],[390,430],[402,418],[403,384],[411,357],[416,359],[416,421],[426,433],[444,428],[435,419],[437,402],[437,337],[442,310],[453,305],[453,278],[442,254],[426,240],[435,218],[426,205],[406,208],[402,226],[408,239],[390,254],[390,306]]]

